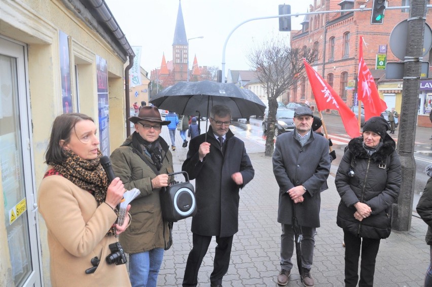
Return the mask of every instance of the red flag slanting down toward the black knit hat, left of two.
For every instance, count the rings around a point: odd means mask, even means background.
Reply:
[[[350,137],[359,136],[360,130],[358,128],[358,121],[354,113],[333,90],[333,88],[306,62],[306,59],[303,58],[303,62],[305,64],[310,86],[315,96],[315,102],[318,111],[323,111],[326,109],[339,111],[346,133]]]

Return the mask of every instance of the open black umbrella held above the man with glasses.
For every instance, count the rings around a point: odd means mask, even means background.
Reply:
[[[209,107],[227,105],[233,118],[246,118],[262,115],[266,106],[256,94],[234,83],[211,81],[178,82],[159,92],[150,101],[159,109],[179,115],[196,115],[198,110],[203,117],[209,117]]]

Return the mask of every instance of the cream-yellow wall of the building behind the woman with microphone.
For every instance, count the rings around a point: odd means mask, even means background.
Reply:
[[[53,120],[62,114],[59,67],[59,31],[69,36],[71,90],[79,95],[80,112],[95,119],[98,125],[96,56],[107,61],[109,74],[110,144],[111,151],[121,145],[125,134],[125,100],[123,88],[124,61],[98,33],[91,30],[77,16],[56,0],[2,0],[0,5],[0,34],[27,45],[28,92],[32,127],[32,162],[34,192],[40,185],[46,164],[44,153]],[[78,67],[78,89],[75,68]],[[147,100],[148,101],[148,98]],[[77,102],[74,102],[74,111]],[[3,197],[3,196],[2,196]],[[0,202],[1,203],[1,202]],[[0,204],[0,214],[5,214]],[[0,218],[1,219],[1,218]],[[40,220],[43,281],[50,286],[49,250],[46,227]],[[4,221],[3,221],[4,222]],[[8,250],[7,238],[0,232],[0,248]],[[9,256],[0,258],[0,285],[7,285],[10,272]]]

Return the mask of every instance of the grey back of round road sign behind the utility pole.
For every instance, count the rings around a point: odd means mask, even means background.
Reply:
[[[432,30],[427,23],[424,24],[423,56],[425,56],[432,47]],[[391,52],[401,61],[403,61],[407,55],[407,42],[408,20],[405,19],[394,26],[393,30],[391,30],[389,40]]]

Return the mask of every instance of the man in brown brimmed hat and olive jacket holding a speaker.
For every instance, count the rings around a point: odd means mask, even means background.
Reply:
[[[111,155],[111,163],[126,190],[137,188],[141,194],[130,204],[133,221],[120,236],[120,243],[129,254],[132,286],[156,286],[164,249],[172,243],[172,224],[164,222],[159,199],[162,187],[174,171],[172,154],[160,137],[162,121],[155,106],[142,106],[136,117],[135,132]]]

